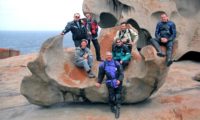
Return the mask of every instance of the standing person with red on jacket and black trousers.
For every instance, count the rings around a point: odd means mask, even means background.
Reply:
[[[88,40],[88,48],[90,48],[90,42],[92,41],[95,52],[96,52],[96,60],[101,60],[101,54],[100,54],[100,45],[97,40],[98,37],[98,24],[96,20],[92,19],[92,15],[90,13],[85,14],[86,19],[84,19],[84,23],[87,29],[87,40]]]

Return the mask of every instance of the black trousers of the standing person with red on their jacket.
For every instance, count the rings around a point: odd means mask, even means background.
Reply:
[[[97,60],[101,60],[101,54],[100,54],[100,45],[97,39],[88,39],[88,45],[87,47],[90,48],[90,41],[92,41],[94,48],[95,48],[95,52],[96,52],[96,59]]]

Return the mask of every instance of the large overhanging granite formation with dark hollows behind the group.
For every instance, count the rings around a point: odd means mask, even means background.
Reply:
[[[189,51],[200,52],[199,0],[84,0],[84,13],[90,12],[102,28],[128,21],[138,31],[138,46],[147,44],[147,31],[154,35],[160,13],[167,13],[177,26],[177,60]]]

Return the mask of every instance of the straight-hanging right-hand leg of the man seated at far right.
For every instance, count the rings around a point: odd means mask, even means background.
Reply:
[[[166,44],[166,49],[167,49],[166,65],[169,67],[172,64],[173,41],[169,41]]]

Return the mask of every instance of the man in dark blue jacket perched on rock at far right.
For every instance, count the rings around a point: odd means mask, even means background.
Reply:
[[[172,64],[172,50],[174,39],[176,38],[176,25],[174,22],[169,21],[166,13],[160,15],[161,21],[157,23],[155,37],[150,39],[150,42],[157,50],[157,55],[164,57],[165,54],[161,51],[160,45],[167,48],[166,65],[169,67]]]

